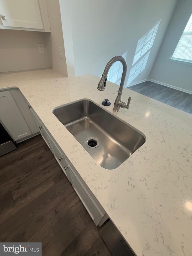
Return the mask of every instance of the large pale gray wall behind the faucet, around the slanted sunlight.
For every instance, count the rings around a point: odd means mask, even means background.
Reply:
[[[127,81],[138,40],[161,20],[146,68],[133,82],[147,79],[176,2],[71,0],[75,75],[90,73],[101,76],[105,65],[113,56],[125,54],[128,63]],[[121,66],[117,65],[114,72],[118,73],[118,68]],[[117,77],[121,76],[121,72],[122,70]],[[113,79],[111,81],[120,82]]]

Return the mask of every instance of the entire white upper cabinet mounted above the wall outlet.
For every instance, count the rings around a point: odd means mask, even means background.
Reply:
[[[0,0],[1,29],[50,32],[44,0]]]

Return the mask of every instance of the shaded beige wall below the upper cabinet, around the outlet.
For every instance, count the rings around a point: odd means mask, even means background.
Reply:
[[[45,34],[0,29],[0,72],[50,68]],[[45,53],[39,53],[38,43],[43,43]]]

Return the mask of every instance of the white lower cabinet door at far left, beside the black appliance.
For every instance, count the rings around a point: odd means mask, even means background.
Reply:
[[[31,135],[31,131],[9,91],[0,92],[0,120],[15,141]]]

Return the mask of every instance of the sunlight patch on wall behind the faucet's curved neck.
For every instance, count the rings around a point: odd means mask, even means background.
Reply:
[[[122,57],[126,60],[127,52],[122,55]],[[121,77],[123,72],[123,65],[120,61],[116,61],[110,68],[107,80],[120,85]]]

